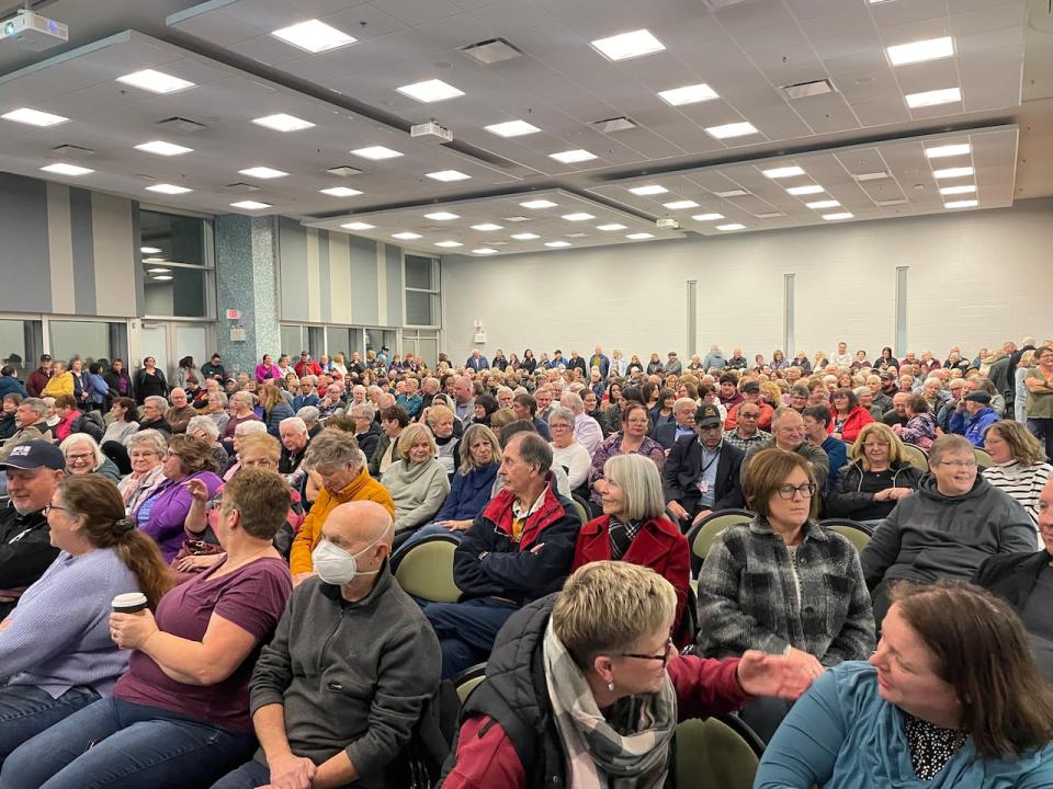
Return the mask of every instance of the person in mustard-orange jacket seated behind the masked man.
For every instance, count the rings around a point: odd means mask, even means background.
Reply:
[[[373,501],[395,517],[392,494],[370,477],[365,457],[354,436],[341,431],[326,430],[310,442],[302,466],[313,471],[320,482],[318,498],[296,533],[288,554],[288,567],[296,586],[315,572],[313,553],[321,539],[321,527],[329,513],[339,504],[351,501]]]

